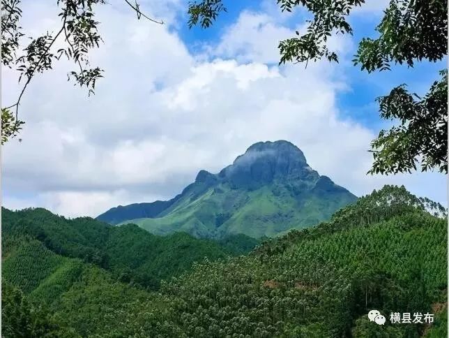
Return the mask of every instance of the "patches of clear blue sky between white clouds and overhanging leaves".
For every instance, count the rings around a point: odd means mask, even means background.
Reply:
[[[274,3],[275,1],[273,1]],[[383,1],[385,2],[385,1]],[[229,25],[238,20],[238,16],[243,10],[253,13],[264,13],[266,4],[264,1],[225,1],[227,13],[221,13],[218,20],[208,29],[181,25],[178,30],[179,36],[185,41],[190,52],[198,52],[198,48],[204,43],[214,43],[220,39],[223,31]],[[294,15],[281,13],[280,15],[289,17],[283,22],[285,27],[295,29],[298,22],[303,22],[308,17],[303,10],[296,10]],[[385,126],[385,122],[379,119],[377,105],[374,99],[378,96],[386,95],[395,86],[406,83],[411,91],[418,95],[425,94],[434,80],[439,78],[438,72],[446,68],[446,60],[441,62],[418,62],[413,68],[406,65],[392,65],[391,71],[367,73],[360,71],[359,66],[353,66],[349,61],[351,55],[356,54],[357,43],[362,38],[376,38],[376,26],[381,20],[382,12],[378,10],[367,15],[351,15],[349,22],[353,27],[353,48],[347,51],[349,59],[344,59],[344,64],[335,65],[347,75],[347,84],[351,89],[338,94],[338,106],[342,115],[351,117],[373,131]],[[182,20],[186,20],[183,17]],[[301,65],[298,65],[300,67]]]

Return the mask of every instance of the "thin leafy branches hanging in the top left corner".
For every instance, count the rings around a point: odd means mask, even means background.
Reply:
[[[135,4],[124,1],[137,13],[137,19],[144,17],[151,22],[163,24],[162,21],[153,20],[142,13],[137,1]],[[17,101],[1,108],[1,144],[15,137],[22,129],[24,122],[18,119],[18,112],[26,87],[34,75],[52,69],[54,61],[63,56],[72,60],[77,71],[70,71],[68,80],[73,79],[80,87],[85,86],[89,95],[94,94],[96,82],[102,78],[102,69],[90,67],[88,56],[89,50],[99,47],[102,41],[98,34],[99,22],[95,19],[94,9],[97,5],[105,5],[106,1],[56,0],[56,4],[61,8],[60,29],[38,37],[29,36],[30,42],[20,51],[24,37],[20,27],[20,0],[1,1],[1,62],[3,66],[15,68],[19,73],[19,82],[24,83]],[[52,47],[58,39],[63,41],[63,47],[54,51]]]

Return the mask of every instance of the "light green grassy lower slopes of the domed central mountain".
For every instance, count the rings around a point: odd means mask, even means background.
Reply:
[[[197,198],[183,196],[158,218],[123,223],[135,223],[157,235],[184,231],[195,237],[238,233],[254,238],[274,237],[292,228],[304,228],[326,220],[335,210],[354,200],[342,193],[327,196],[308,193],[298,199],[279,186],[245,191],[221,184]],[[222,224],[217,223],[219,214],[227,216]]]

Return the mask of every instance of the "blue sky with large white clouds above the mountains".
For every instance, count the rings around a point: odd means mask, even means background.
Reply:
[[[277,44],[304,29],[307,13],[281,13],[275,0],[228,0],[227,13],[206,30],[188,29],[187,1],[140,1],[163,25],[109,2],[96,13],[104,43],[90,54],[105,70],[96,94],[67,82],[74,65],[63,59],[26,90],[22,142],[2,148],[3,206],[74,217],[166,200],[199,170],[219,172],[266,140],[293,142],[314,170],[356,196],[404,184],[447,205],[439,172],[366,175],[371,140],[392,125],[379,118],[375,98],[402,83],[424,94],[446,67],[423,62],[367,74],[353,66],[358,42],[376,37],[388,1],[368,0],[351,13],[353,36],[330,38],[338,64],[307,68],[278,66]],[[24,0],[22,9],[26,34],[59,27],[56,1]],[[12,70],[2,68],[1,80],[5,106],[20,87]]]

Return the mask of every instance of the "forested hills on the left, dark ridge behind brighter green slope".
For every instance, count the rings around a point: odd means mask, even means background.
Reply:
[[[114,328],[125,327],[123,316],[137,309],[147,313],[146,302],[155,307],[158,295],[146,290],[160,279],[259,244],[244,235],[221,242],[186,233],[159,237],[41,208],[2,208],[1,240],[3,337],[123,337]],[[130,330],[125,337],[137,332]]]

